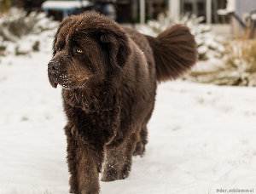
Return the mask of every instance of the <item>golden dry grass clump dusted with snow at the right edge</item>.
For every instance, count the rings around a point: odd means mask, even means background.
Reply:
[[[256,86],[256,41],[230,42],[222,60],[201,61],[186,78],[199,83]]]

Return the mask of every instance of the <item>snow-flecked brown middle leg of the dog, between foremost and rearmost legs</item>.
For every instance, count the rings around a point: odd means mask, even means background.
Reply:
[[[137,135],[131,134],[117,147],[106,147],[102,181],[123,180],[128,177],[136,142]]]

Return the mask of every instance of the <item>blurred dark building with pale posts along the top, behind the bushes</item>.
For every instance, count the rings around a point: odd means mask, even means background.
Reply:
[[[9,0],[26,9],[55,13],[61,20],[68,14],[95,9],[120,23],[144,23],[161,13],[179,20],[183,15],[203,16],[213,31],[224,36],[239,35],[250,28],[254,33],[256,0]],[[43,6],[42,6],[43,4]],[[61,11],[61,12],[60,12]],[[255,12],[256,13],[256,12]],[[252,32],[253,31],[253,32]],[[250,35],[251,36],[251,35]]]

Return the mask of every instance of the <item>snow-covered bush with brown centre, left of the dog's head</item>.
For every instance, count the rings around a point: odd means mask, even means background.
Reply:
[[[43,41],[40,40],[41,34],[49,35],[49,31],[54,31],[57,25],[44,13],[27,14],[21,9],[10,9],[0,18],[0,55],[38,51]]]

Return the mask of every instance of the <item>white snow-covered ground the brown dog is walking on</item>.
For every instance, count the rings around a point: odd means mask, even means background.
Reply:
[[[46,38],[46,37],[45,37]],[[49,86],[51,38],[0,61],[0,193],[68,193],[61,90]],[[158,89],[146,155],[102,194],[256,191],[256,88],[169,82]]]

